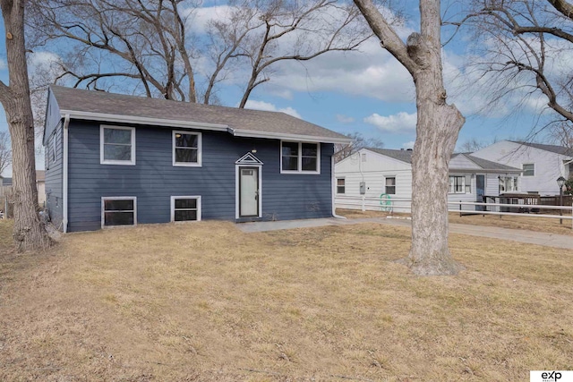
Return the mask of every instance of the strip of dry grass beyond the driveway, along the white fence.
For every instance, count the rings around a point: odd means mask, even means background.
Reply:
[[[360,211],[355,209],[337,209],[337,214],[346,216],[350,219],[360,217],[386,217],[389,216],[388,212],[383,211]],[[409,214],[394,214],[394,216],[409,216]],[[557,233],[573,235],[571,229],[571,220],[563,219],[563,224],[560,225],[560,220],[551,217],[535,217],[535,214],[523,214],[520,216],[505,215],[466,215],[459,216],[458,213],[449,213],[449,223],[460,225],[487,225],[502,228],[521,229],[527,231],[536,231],[544,233]]]

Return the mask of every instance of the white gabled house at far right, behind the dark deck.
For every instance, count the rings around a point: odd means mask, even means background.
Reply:
[[[520,191],[558,195],[557,178],[573,175],[573,152],[562,146],[500,140],[472,153],[474,157],[521,168]]]

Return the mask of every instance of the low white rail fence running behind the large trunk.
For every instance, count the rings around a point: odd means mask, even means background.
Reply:
[[[531,217],[549,217],[556,219],[571,220],[573,228],[573,205],[572,206],[546,206],[542,204],[504,204],[504,203],[482,203],[470,201],[448,201],[449,212],[459,212],[463,215],[509,215]],[[336,208],[361,209],[362,211],[384,211],[392,213],[411,213],[412,199],[405,198],[365,198],[352,196],[337,196],[335,200]],[[457,206],[452,208],[452,206]],[[482,207],[482,208],[478,208]],[[481,210],[483,209],[483,210]],[[505,210],[504,210],[505,209]],[[562,215],[542,214],[540,210],[560,211]],[[511,212],[517,210],[519,212]]]

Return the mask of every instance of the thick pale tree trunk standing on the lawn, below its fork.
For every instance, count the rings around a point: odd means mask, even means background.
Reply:
[[[412,248],[407,265],[420,276],[455,275],[448,248],[449,157],[464,118],[454,106],[432,101],[436,89],[418,96],[417,135],[412,155]],[[430,88],[430,87],[428,87]],[[433,96],[433,97],[432,97]]]

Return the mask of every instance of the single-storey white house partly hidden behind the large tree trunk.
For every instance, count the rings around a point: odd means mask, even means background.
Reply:
[[[409,201],[400,199],[412,198],[412,150],[361,149],[334,168],[337,208],[362,208],[364,198],[369,210],[410,211]],[[449,162],[448,199],[481,202],[483,196],[519,191],[521,171],[469,154],[454,154]]]

